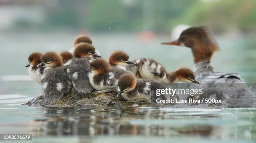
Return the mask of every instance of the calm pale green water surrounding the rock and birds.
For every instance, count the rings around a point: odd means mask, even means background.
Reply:
[[[61,34],[60,34],[61,33]],[[33,51],[60,52],[72,47],[74,32],[0,34],[0,134],[33,134],[34,142],[253,142],[256,140],[254,108],[132,107],[48,108],[21,105],[41,92],[26,76]],[[130,59],[153,57],[169,71],[193,68],[190,49],[161,46],[167,36],[144,41],[135,34],[90,35],[106,59],[121,49]],[[221,51],[214,55],[216,71],[238,72],[255,82],[255,46],[250,38],[218,37]]]

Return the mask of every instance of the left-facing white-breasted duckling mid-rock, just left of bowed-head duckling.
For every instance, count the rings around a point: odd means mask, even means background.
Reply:
[[[90,63],[90,70],[88,70],[89,79],[92,87],[97,91],[96,93],[104,92],[118,92],[118,79],[122,74],[128,73],[123,69],[116,67],[110,68],[108,62],[104,59],[95,59]]]

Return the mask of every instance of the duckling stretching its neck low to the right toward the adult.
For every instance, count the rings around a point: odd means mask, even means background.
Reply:
[[[136,65],[127,65],[126,68],[136,74],[138,78],[154,79],[162,83],[181,81],[200,84],[195,80],[194,73],[188,68],[180,68],[175,72],[168,73],[164,66],[154,59],[141,58],[135,61]]]

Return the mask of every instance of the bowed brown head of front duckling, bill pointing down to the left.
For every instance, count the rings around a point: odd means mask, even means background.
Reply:
[[[118,80],[119,93],[117,96],[123,92],[133,91],[136,87],[137,80],[136,77],[132,74],[123,74]]]

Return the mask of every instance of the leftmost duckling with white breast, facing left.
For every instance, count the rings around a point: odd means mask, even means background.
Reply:
[[[41,82],[41,77],[44,74],[44,67],[38,67],[37,65],[41,63],[40,57],[42,54],[40,52],[33,52],[28,57],[29,64],[26,65],[28,68],[28,74],[33,79],[33,81],[36,81],[37,83]]]

